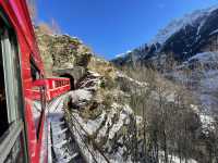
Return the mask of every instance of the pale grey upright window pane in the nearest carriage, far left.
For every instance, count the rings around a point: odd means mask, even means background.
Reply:
[[[4,29],[1,37],[2,59],[5,80],[5,95],[9,123],[20,118],[19,106],[22,101],[19,51],[15,36]],[[7,74],[7,75],[5,75]]]

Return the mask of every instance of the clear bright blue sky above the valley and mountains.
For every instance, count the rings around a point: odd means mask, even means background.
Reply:
[[[97,54],[112,59],[149,41],[170,21],[218,0],[36,0],[39,22],[56,20]]]

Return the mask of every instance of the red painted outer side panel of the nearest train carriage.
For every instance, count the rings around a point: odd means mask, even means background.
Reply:
[[[34,116],[33,116],[33,97],[37,93],[32,92],[34,87],[33,78],[31,75],[31,57],[35,61],[36,66],[40,70],[40,75],[44,75],[44,66],[38,52],[38,47],[36,46],[36,39],[34,36],[34,29],[31,24],[31,18],[28,15],[27,7],[25,0],[0,0],[0,8],[7,14],[9,22],[11,23],[19,42],[20,48],[20,59],[21,59],[21,78],[23,86],[23,99],[24,109],[23,117],[25,118],[25,134],[27,141],[27,152],[28,162],[38,163],[40,160],[39,152],[43,145],[44,136],[44,124],[45,114],[43,112],[43,118],[40,128],[36,127]],[[38,137],[36,136],[38,133]],[[46,160],[46,159],[43,159]]]

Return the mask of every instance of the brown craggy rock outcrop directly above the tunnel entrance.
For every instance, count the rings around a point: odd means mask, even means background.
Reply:
[[[73,76],[76,79],[84,75],[93,52],[81,40],[68,35],[47,34],[39,27],[35,30],[47,77],[69,74],[63,71],[69,68],[75,70]]]

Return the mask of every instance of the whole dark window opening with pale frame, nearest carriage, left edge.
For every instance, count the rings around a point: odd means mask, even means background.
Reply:
[[[0,162],[27,162],[16,35],[0,10]]]

